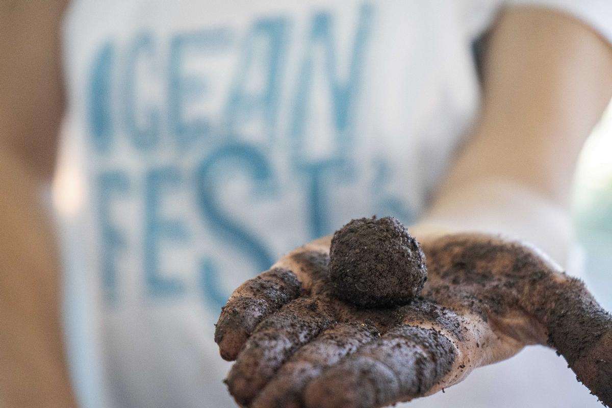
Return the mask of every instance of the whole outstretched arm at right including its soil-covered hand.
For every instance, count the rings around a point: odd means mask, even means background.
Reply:
[[[474,132],[411,228],[430,270],[424,297],[354,308],[326,293],[329,237],[298,248],[237,289],[217,324],[239,403],[385,406],[548,344],[610,404],[610,378],[597,369],[610,370],[612,321],[582,284],[529,245],[446,233],[510,234],[565,262],[573,166],[612,95],[612,51],[578,21],[535,8],[504,12],[490,41]]]

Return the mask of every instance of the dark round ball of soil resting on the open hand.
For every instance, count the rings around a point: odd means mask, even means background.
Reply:
[[[360,218],[332,238],[329,278],[335,295],[357,306],[408,303],[427,280],[425,254],[397,218]]]

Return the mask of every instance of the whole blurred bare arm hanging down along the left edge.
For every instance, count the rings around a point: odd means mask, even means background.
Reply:
[[[61,333],[59,262],[40,192],[63,109],[66,1],[0,4],[0,405],[76,406]]]

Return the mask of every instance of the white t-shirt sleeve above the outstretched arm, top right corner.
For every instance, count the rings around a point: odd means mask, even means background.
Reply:
[[[506,6],[542,6],[568,13],[612,44],[612,0],[506,0]]]

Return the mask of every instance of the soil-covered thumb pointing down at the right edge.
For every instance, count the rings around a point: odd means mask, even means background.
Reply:
[[[565,357],[591,393],[612,405],[612,316],[584,283],[572,278],[542,253],[521,243],[497,245],[513,259],[513,288],[524,311],[545,329],[540,343]],[[503,264],[502,264],[503,265]],[[498,267],[501,269],[502,266]],[[504,271],[499,271],[499,274]]]

